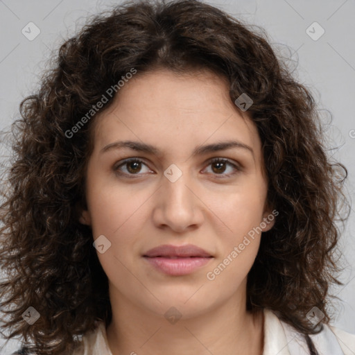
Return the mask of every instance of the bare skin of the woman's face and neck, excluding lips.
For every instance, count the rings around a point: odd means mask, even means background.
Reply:
[[[228,92],[225,80],[209,71],[178,76],[157,69],[137,73],[96,116],[80,223],[92,227],[94,239],[104,235],[111,243],[98,258],[110,285],[112,354],[262,354],[263,316],[245,306],[261,234],[213,281],[206,277],[271,214],[257,128]],[[231,139],[252,152],[230,148],[192,156],[196,146]],[[151,144],[160,153],[102,151],[123,140]],[[130,157],[144,164],[120,166]],[[211,164],[215,157],[241,170]],[[175,182],[164,175],[171,164],[182,171]],[[189,243],[213,256],[189,275],[165,275],[142,257],[158,245]],[[172,306],[182,315],[175,324],[164,317]]]

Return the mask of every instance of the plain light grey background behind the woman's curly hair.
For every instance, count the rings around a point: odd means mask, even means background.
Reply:
[[[19,115],[21,99],[36,89],[52,51],[80,30],[87,16],[120,2],[0,0],[1,130]],[[347,193],[352,199],[355,191],[355,1],[214,0],[209,3],[249,24],[262,26],[275,50],[292,56],[295,63],[291,61],[290,64],[293,67],[298,60],[296,78],[311,89],[319,109],[327,109],[333,116],[331,121],[329,114],[322,111],[329,146],[335,147],[329,155],[347,166]],[[28,31],[31,21],[40,28],[40,34],[32,41],[21,33],[23,28]],[[311,26],[315,21],[324,28],[324,34],[317,40],[309,36],[312,35],[309,31],[313,32],[313,37],[318,37],[322,31],[318,25]],[[34,28],[31,33],[35,33]],[[2,156],[8,155],[6,147],[0,148]],[[341,241],[345,286],[333,290],[340,298],[335,303],[333,323],[352,333],[355,333],[354,220],[355,207]],[[11,354],[17,347],[19,343],[12,340],[0,349],[0,354]]]

